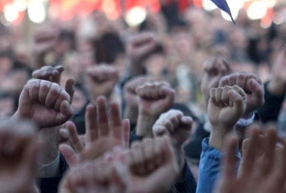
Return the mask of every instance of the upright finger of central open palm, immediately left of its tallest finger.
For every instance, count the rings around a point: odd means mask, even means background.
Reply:
[[[85,109],[86,144],[98,139],[97,111],[94,105],[87,105]]]

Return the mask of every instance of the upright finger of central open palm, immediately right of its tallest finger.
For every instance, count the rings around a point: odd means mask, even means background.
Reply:
[[[111,134],[115,139],[122,140],[123,127],[122,127],[120,107],[117,102],[113,102],[110,104],[110,129],[111,129]]]

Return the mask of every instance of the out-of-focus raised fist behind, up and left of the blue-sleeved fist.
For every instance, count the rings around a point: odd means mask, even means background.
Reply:
[[[204,96],[205,109],[209,100],[211,88],[217,88],[223,76],[231,73],[230,65],[222,58],[210,58],[204,62],[204,75],[201,91]]]

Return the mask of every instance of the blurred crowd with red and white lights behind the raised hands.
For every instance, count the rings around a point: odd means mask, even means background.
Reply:
[[[210,0],[0,0],[0,118],[14,112],[31,72],[44,65],[63,65],[62,81],[76,79],[80,111],[89,91],[84,70],[107,63],[123,77],[126,41],[143,31],[160,44],[144,59],[145,73],[165,77],[176,101],[200,116],[206,59],[223,57],[266,81],[286,42],[286,0],[227,2],[237,25]]]

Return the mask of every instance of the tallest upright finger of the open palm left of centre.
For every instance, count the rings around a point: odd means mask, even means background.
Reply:
[[[97,123],[98,123],[98,136],[108,136],[109,135],[109,119],[106,110],[106,100],[104,97],[99,97],[97,99]]]

